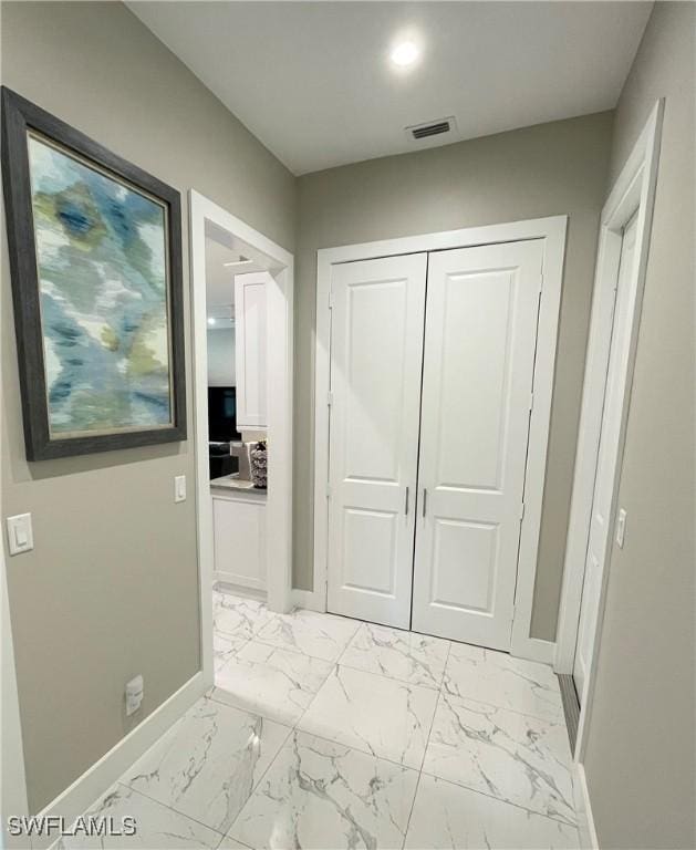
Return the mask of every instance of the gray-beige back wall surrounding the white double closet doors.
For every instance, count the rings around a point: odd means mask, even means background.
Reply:
[[[599,214],[612,114],[373,159],[298,180],[294,581],[313,558],[316,250],[541,216],[570,216],[532,634],[553,640],[572,487]]]

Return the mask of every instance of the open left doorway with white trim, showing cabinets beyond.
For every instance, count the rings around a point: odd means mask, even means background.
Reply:
[[[191,190],[189,200],[200,628],[209,686],[216,580],[263,594],[271,611],[291,607],[293,257],[199,193]]]

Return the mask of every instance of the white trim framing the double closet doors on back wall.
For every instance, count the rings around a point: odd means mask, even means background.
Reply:
[[[544,240],[543,288],[539,313],[539,335],[534,365],[534,407],[529,434],[529,456],[524,494],[524,518],[520,539],[516,613],[512,626],[513,655],[552,662],[554,643],[530,636],[531,609],[537,573],[541,505],[546,480],[551,396],[558,338],[559,310],[565,253],[568,216],[551,216],[528,221],[487,225],[397,239],[386,239],[316,252],[316,339],[314,375],[314,576],[313,590],[303,598],[315,610],[326,610],[328,524],[326,483],[329,480],[329,374],[331,359],[331,310],[329,291],[331,267],[352,260],[367,260],[401,253],[467,248],[527,239]]]

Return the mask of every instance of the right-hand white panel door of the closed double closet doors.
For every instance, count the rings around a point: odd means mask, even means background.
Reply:
[[[413,628],[509,650],[541,240],[430,255]]]

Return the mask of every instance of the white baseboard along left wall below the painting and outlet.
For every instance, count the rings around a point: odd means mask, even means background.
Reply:
[[[60,794],[39,812],[39,817],[58,815],[72,823],[97,800],[145,750],[155,744],[164,733],[181,717],[205,693],[202,673],[198,672],[181,685],[172,696],[148,715],[139,726],[122,738],[89,770]],[[53,837],[32,837],[35,850],[48,847]]]

